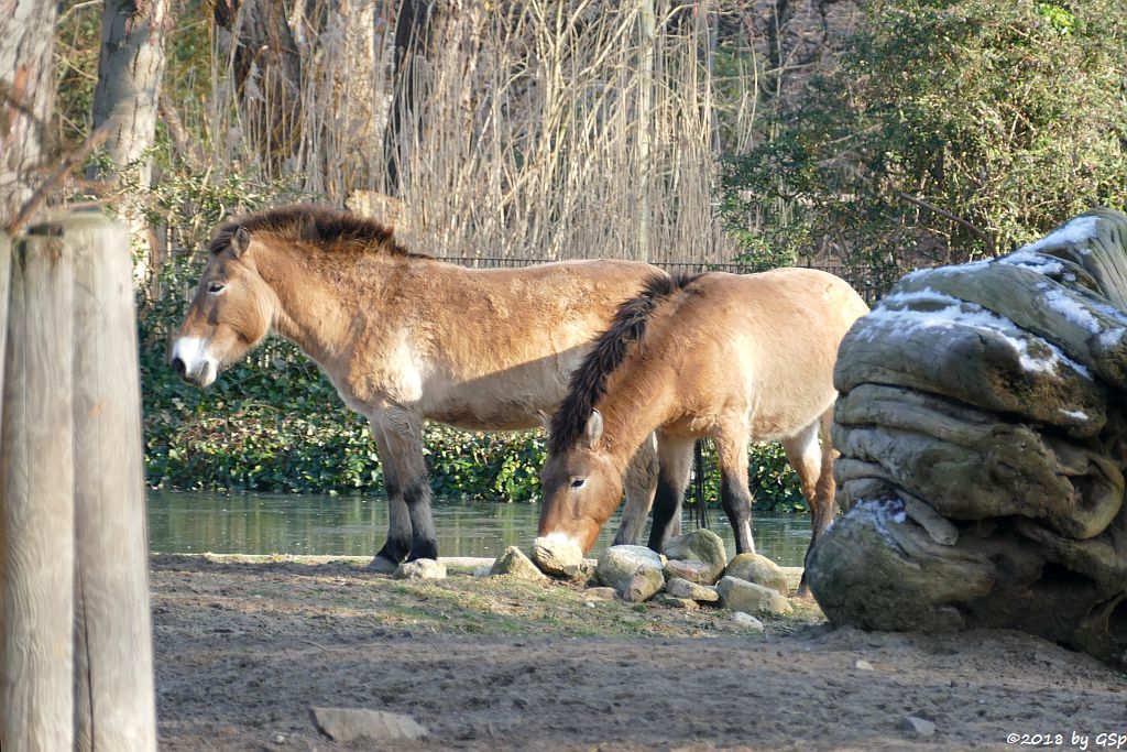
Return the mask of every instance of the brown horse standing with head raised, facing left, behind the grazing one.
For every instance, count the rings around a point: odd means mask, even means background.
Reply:
[[[664,274],[610,260],[468,269],[409,253],[371,220],[276,209],[215,231],[171,363],[206,387],[270,331],[316,361],[371,423],[390,505],[372,564],[387,568],[437,556],[424,418],[536,426],[616,307],[655,273]],[[640,537],[656,484],[651,453],[639,454],[625,483],[623,530]]]

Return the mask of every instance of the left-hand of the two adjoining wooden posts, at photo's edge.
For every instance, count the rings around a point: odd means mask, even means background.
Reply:
[[[15,242],[0,421],[0,747],[73,742],[73,266],[62,239]]]

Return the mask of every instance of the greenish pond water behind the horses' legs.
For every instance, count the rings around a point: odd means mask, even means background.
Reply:
[[[735,554],[727,517],[710,510],[711,528]],[[436,499],[434,522],[442,556],[496,557],[507,546],[525,551],[536,536],[536,504],[467,504]],[[618,514],[603,528],[593,554],[610,546]],[[684,529],[693,521],[687,513]],[[149,492],[149,547],[161,554],[291,554],[372,556],[388,530],[388,504],[379,497],[198,494]],[[757,514],[753,534],[760,554],[782,566],[801,566],[810,519]]]

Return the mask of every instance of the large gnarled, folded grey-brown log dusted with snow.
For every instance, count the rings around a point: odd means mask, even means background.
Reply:
[[[1127,666],[1127,216],[907,275],[842,343],[835,623],[1004,627]]]

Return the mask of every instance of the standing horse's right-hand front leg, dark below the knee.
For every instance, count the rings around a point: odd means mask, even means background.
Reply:
[[[394,468],[397,487],[389,488],[389,492],[394,490],[402,499],[410,525],[407,560],[437,559],[438,539],[431,513],[431,480],[423,458],[423,419],[406,409],[390,408],[382,410],[375,423],[388,446],[387,465]],[[394,502],[391,502],[391,508],[394,511]]]

